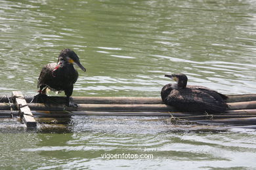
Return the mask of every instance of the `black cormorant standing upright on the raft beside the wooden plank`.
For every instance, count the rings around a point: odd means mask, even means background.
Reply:
[[[38,95],[46,95],[48,88],[56,92],[64,90],[67,97],[67,105],[77,107],[77,105],[70,100],[74,83],[78,78],[78,73],[73,65],[74,63],[83,71],[86,71],[85,67],[81,65],[77,54],[75,54],[73,50],[64,49],[60,52],[57,63],[45,65],[37,80],[37,88],[40,89]]]

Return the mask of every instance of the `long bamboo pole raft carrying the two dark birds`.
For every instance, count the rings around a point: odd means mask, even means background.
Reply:
[[[164,105],[160,97],[72,97],[78,107],[66,107],[66,97],[47,97],[46,103],[31,103],[33,96],[12,92],[0,96],[0,118],[19,116],[27,127],[36,127],[39,118],[67,118],[74,115],[167,116],[175,122],[256,125],[256,94],[228,95],[228,110],[221,114],[179,112]],[[35,120],[37,119],[37,121]]]

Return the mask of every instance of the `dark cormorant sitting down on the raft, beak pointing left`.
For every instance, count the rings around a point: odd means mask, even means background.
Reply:
[[[161,99],[165,105],[171,105],[186,112],[224,112],[228,108],[225,99],[228,97],[203,86],[186,86],[186,75],[165,75],[177,84],[166,84],[161,90]]]

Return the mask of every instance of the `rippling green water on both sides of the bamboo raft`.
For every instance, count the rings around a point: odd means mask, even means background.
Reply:
[[[0,94],[37,93],[41,67],[63,48],[87,69],[78,69],[74,95],[159,97],[165,73],[225,94],[256,93],[255,9],[249,0],[1,1]],[[6,124],[1,169],[256,168],[251,129],[194,131],[115,116],[74,116],[47,131]],[[105,153],[154,158],[106,160]]]

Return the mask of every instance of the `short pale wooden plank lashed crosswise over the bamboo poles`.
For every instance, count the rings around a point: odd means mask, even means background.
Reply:
[[[30,110],[30,107],[28,107],[28,104],[24,99],[24,96],[22,95],[22,92],[14,91],[12,92],[12,96],[15,99],[16,107],[20,111],[20,114],[22,115],[22,120],[25,122],[26,126],[36,127],[37,123],[33,118],[33,114]]]

